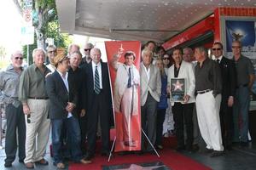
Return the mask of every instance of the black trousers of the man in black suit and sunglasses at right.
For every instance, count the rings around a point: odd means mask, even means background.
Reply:
[[[227,105],[228,99],[223,99],[219,110],[219,119],[221,126],[221,135],[224,147],[229,147],[232,144],[232,129],[233,129],[233,115],[232,107]]]

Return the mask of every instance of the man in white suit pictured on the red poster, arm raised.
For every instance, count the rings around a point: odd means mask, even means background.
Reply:
[[[111,65],[116,71],[113,90],[113,105],[116,113],[123,114],[123,140],[125,146],[134,147],[136,142],[132,139],[131,116],[138,114],[138,85],[140,75],[133,62],[136,54],[132,51],[125,52],[125,63],[118,62],[123,48],[119,48],[118,54],[113,55]]]

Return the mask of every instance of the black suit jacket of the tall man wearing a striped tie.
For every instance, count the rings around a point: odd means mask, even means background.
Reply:
[[[91,61],[92,62],[92,61]],[[93,101],[95,98],[94,92],[94,79],[92,71],[92,63],[84,65],[81,69],[84,71],[85,83],[84,83],[84,93],[86,94],[83,99],[86,111],[91,111],[93,106]],[[111,109],[112,99],[111,99],[111,90],[108,76],[108,64],[101,62],[102,65],[102,102],[104,107],[108,110]]]

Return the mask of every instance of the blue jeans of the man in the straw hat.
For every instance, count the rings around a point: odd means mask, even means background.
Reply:
[[[80,148],[81,143],[81,133],[79,127],[79,120],[72,116],[65,119],[52,119],[52,146],[53,146],[53,158],[55,164],[63,161],[62,150],[61,150],[61,129],[63,125],[67,127],[67,136],[69,138],[71,150],[71,156],[73,161],[79,162],[82,159],[82,151]]]

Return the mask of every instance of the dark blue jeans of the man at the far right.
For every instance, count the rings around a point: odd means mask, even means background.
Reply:
[[[249,105],[249,88],[236,88],[235,105],[233,106],[234,142],[239,142],[239,136],[241,142],[247,142],[248,140]],[[241,117],[241,127],[239,127],[239,117]]]

